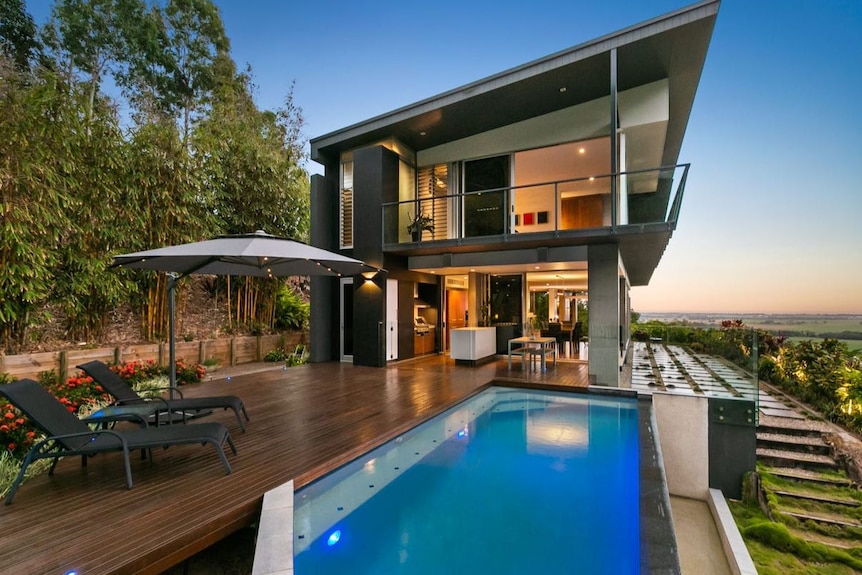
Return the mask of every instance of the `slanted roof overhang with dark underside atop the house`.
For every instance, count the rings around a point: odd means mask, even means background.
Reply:
[[[313,138],[311,159],[335,161],[342,152],[393,137],[419,151],[608,96],[609,54],[616,49],[619,91],[669,80],[662,165],[674,165],[719,4],[719,0],[693,4]],[[566,90],[561,92],[561,87]]]

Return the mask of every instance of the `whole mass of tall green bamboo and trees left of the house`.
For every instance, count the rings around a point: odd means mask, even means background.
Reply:
[[[0,349],[26,349],[51,314],[98,339],[125,305],[143,339],[165,334],[165,275],[113,255],[263,225],[307,238],[302,109],[293,87],[255,104],[211,0],[54,0],[44,26],[0,5]],[[228,327],[271,328],[283,284],[217,282]]]

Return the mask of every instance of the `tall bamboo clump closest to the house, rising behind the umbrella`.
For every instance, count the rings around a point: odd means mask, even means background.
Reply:
[[[192,147],[203,158],[211,210],[224,233],[264,229],[304,238],[308,231],[308,176],[302,159],[302,111],[293,104],[261,112],[251,96],[249,71],[238,74],[229,58],[216,66],[210,117],[194,131]],[[227,281],[232,318],[248,325],[273,325],[280,282]]]

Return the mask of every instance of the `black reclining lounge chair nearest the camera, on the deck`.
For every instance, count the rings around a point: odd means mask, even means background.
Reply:
[[[0,395],[5,396],[27,416],[33,425],[47,434],[47,437],[36,443],[24,457],[21,470],[6,496],[6,505],[12,503],[27,467],[38,459],[54,459],[48,472],[49,475],[53,475],[54,467],[61,457],[80,455],[81,464],[86,466],[88,457],[105,451],[122,451],[126,466],[126,485],[131,489],[132,468],[129,453],[132,451],[141,449],[148,453],[153,447],[210,443],[218,451],[225,471],[228,474],[231,472],[222,445],[227,443],[234,454],[236,454],[236,447],[227,428],[221,423],[213,421],[128,430],[93,430],[70,413],[47,389],[32,379],[21,379],[0,385]]]

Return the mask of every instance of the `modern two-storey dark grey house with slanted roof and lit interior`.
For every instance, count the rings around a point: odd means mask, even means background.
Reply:
[[[588,302],[591,379],[618,385],[630,288],[649,283],[679,217],[679,152],[718,8],[314,138],[312,244],[382,271],[312,280],[312,361],[445,353],[454,329],[498,326],[505,340],[531,318],[574,325]]]

